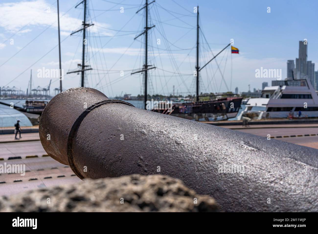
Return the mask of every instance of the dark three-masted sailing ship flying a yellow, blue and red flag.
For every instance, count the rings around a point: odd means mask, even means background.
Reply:
[[[136,12],[140,12],[142,10],[145,10],[145,27],[144,31],[142,31],[138,36],[134,38],[137,39],[140,36],[144,35],[145,39],[145,54],[144,54],[144,65],[141,69],[137,71],[133,71],[132,74],[137,74],[141,73],[143,74],[144,78],[144,108],[147,110],[147,101],[148,101],[148,90],[147,90],[147,85],[148,85],[148,71],[150,69],[156,69],[155,66],[149,65],[148,63],[148,33],[149,30],[155,27],[155,25],[149,25],[149,5],[153,4],[155,1],[148,2],[148,0],[145,0],[145,4]],[[71,35],[77,32],[83,32],[83,40],[85,40],[85,34],[86,34],[86,29],[92,25],[88,24],[86,20],[86,0],[81,1],[77,6],[80,4],[83,4],[84,6],[84,19],[83,19],[83,27],[75,32],[73,32]],[[77,7],[76,6],[76,7]],[[75,8],[76,8],[75,7]],[[199,72],[206,66],[208,65],[213,59],[215,59],[220,53],[222,53],[228,46],[231,45],[228,44],[225,46],[224,49],[222,49],[217,55],[215,55],[208,63],[206,63],[203,67],[199,67],[199,11],[198,11],[198,6],[197,6],[197,53],[196,53],[196,58],[197,58],[197,65],[196,65],[196,99],[194,102],[187,102],[187,103],[173,103],[172,107],[170,107],[170,110],[152,110],[156,111],[162,114],[169,114],[177,117],[183,117],[183,118],[188,118],[188,119],[193,119],[193,120],[202,120],[202,121],[212,121],[212,120],[226,120],[228,118],[233,118],[236,117],[241,102],[242,102],[242,97],[237,97],[235,94],[222,94],[222,95],[199,95]],[[234,52],[233,52],[234,49]],[[232,53],[239,53],[238,49],[232,46]],[[82,49],[82,63],[78,64],[78,68],[67,72],[67,74],[71,73],[79,73],[81,72],[81,86],[84,86],[85,82],[85,71],[86,70],[92,70],[90,65],[85,64],[85,43],[83,44],[83,49]],[[200,97],[206,97],[210,96],[209,101],[200,101]],[[218,98],[219,97],[219,98]],[[211,100],[212,98],[212,100]],[[128,99],[126,99],[128,100]]]

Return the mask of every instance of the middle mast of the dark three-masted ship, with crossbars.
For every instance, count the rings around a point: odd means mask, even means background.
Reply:
[[[145,25],[145,30],[139,34],[137,37],[134,38],[137,39],[139,36],[141,36],[142,34],[145,34],[145,64],[143,65],[143,69],[140,70],[140,71],[136,71],[136,72],[133,72],[131,73],[132,74],[135,74],[135,73],[140,73],[140,72],[144,72],[144,78],[145,78],[145,110],[146,110],[146,106],[147,106],[147,80],[148,80],[148,70],[150,69],[153,69],[153,68],[156,68],[156,67],[152,67],[152,65],[148,65],[148,30],[155,27],[155,25],[151,26],[151,27],[148,27],[148,5],[154,3],[155,1],[152,1],[151,3],[148,3],[148,0],[146,0],[146,4],[144,7],[142,7],[141,9],[139,9],[136,14],[141,11],[142,9],[145,8],[145,11],[146,11],[146,17],[145,17],[145,20],[146,20],[146,25]]]

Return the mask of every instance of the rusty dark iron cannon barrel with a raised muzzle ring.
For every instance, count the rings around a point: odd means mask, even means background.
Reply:
[[[90,88],[55,96],[39,134],[82,179],[165,174],[224,211],[318,211],[313,148],[138,109]]]

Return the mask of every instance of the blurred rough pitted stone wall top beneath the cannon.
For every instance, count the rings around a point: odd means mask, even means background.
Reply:
[[[209,212],[215,200],[162,175],[85,179],[0,198],[1,212]]]

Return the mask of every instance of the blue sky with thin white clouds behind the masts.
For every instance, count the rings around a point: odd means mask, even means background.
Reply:
[[[60,0],[61,60],[63,89],[80,86],[80,74],[66,74],[77,69],[82,58],[83,4]],[[145,0],[87,0],[85,86],[99,89],[108,97],[121,93],[143,92]],[[149,0],[149,2],[151,2]],[[149,5],[150,94],[194,94],[196,62],[196,17],[199,5],[200,63],[202,67],[231,39],[239,54],[225,49],[200,72],[200,92],[261,89],[255,70],[282,69],[287,75],[287,60],[298,57],[300,40],[308,40],[308,60],[318,70],[318,1],[211,1],[156,0]],[[268,13],[270,7],[270,13]],[[0,1],[0,86],[26,91],[32,69],[32,89],[59,87],[58,77],[41,77],[41,69],[59,68],[57,1]],[[159,43],[160,40],[160,43]],[[2,44],[1,44],[2,43]]]

